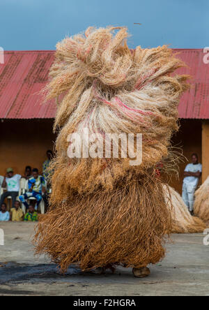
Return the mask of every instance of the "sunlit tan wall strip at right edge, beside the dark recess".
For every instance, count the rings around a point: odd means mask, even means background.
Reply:
[[[203,182],[209,175],[209,121],[203,121]]]

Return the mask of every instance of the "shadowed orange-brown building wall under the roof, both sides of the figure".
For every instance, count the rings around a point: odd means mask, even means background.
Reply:
[[[15,173],[23,174],[26,165],[38,168],[41,172],[42,163],[46,159],[45,153],[47,149],[53,149],[56,139],[56,135],[52,133],[52,126],[52,119],[0,122],[0,175],[5,175],[8,167],[12,167]],[[183,148],[183,154],[189,161],[194,152],[199,154],[201,161],[201,126],[199,120],[180,121],[180,131],[172,139],[173,145]],[[209,124],[206,133],[205,149],[209,152]],[[186,160],[180,164],[180,179],[173,179],[171,182],[171,186],[179,193],[182,190],[185,165]]]

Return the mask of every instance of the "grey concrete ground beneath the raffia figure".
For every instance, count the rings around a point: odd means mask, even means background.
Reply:
[[[203,235],[172,235],[167,256],[151,275],[136,279],[131,269],[115,274],[84,273],[72,266],[64,276],[48,258],[34,258],[33,223],[1,223],[0,295],[209,296],[209,246]]]

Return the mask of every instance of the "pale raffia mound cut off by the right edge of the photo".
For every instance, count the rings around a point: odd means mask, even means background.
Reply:
[[[195,193],[194,214],[209,226],[209,177]]]

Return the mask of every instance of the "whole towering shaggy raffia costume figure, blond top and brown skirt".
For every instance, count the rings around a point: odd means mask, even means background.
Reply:
[[[171,166],[169,140],[178,130],[187,76],[171,74],[183,63],[167,46],[133,51],[126,39],[125,28],[89,28],[56,45],[47,99],[57,100],[59,135],[51,207],[39,223],[36,249],[63,272],[72,263],[82,270],[121,264],[146,276],[146,266],[164,257],[171,214],[155,167]],[[68,136],[84,128],[102,136],[141,133],[141,165],[121,156],[70,159]]]

